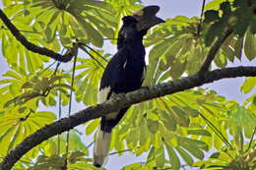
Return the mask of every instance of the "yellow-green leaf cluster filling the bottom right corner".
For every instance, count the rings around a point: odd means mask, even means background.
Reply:
[[[220,151],[213,153],[208,160],[198,161],[194,166],[204,169],[248,169],[255,168],[255,112],[234,105],[224,117],[224,127],[231,137],[231,146],[222,146]]]

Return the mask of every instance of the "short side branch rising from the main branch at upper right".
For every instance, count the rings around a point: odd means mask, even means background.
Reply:
[[[206,60],[203,63],[200,71],[198,72],[199,75],[203,75],[209,70],[213,60],[215,59],[215,56],[216,56],[218,50],[224,43],[224,40],[227,38],[227,36],[229,36],[231,33],[232,33],[231,28],[225,28],[222,35],[213,42],[213,45],[206,57]]]

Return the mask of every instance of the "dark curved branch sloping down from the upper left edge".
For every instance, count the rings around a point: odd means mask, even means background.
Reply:
[[[41,55],[48,56],[52,59],[55,59],[57,61],[61,62],[69,62],[73,58],[73,51],[70,51],[66,53],[65,55],[58,54],[50,49],[47,49],[45,47],[39,47],[32,42],[30,42],[20,31],[18,28],[16,28],[11,21],[7,18],[7,16],[4,14],[4,12],[0,9],[0,18],[5,24],[7,28],[12,32],[12,34],[16,37],[17,40],[19,40],[28,50],[31,50],[34,53],[38,53]]]

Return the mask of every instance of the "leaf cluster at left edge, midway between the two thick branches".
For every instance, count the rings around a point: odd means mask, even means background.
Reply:
[[[3,75],[6,79],[0,82],[0,84],[4,85],[1,88],[4,96],[10,98],[4,98],[4,108],[10,107],[12,104],[23,107],[30,105],[29,108],[34,110],[39,100],[45,105],[53,106],[56,104],[55,96],[57,91],[64,93],[65,95],[63,96],[66,96],[64,100],[67,100],[68,93],[66,88],[73,89],[71,85],[65,84],[64,80],[69,78],[67,75],[56,76],[50,70],[46,72],[44,70],[36,74],[26,74],[22,68],[16,70],[8,71]],[[52,74],[51,77],[44,77],[48,74]],[[30,102],[27,104],[28,101]]]

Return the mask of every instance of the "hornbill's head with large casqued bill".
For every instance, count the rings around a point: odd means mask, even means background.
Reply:
[[[124,39],[130,39],[138,34],[145,35],[148,29],[164,23],[162,19],[156,16],[159,11],[159,6],[147,6],[132,16],[123,17],[123,26],[119,32],[119,36]]]

